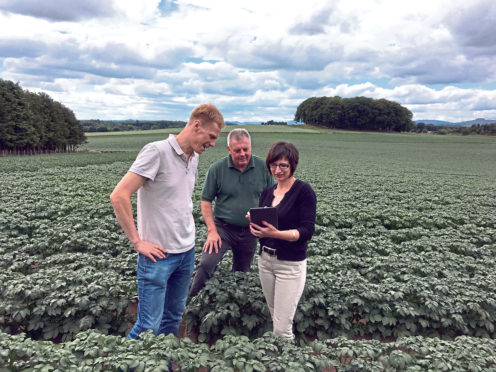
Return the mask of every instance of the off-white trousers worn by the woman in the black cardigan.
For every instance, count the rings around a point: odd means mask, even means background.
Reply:
[[[275,255],[262,252],[258,257],[258,273],[274,334],[293,339],[293,318],[305,287],[307,260],[278,260]]]

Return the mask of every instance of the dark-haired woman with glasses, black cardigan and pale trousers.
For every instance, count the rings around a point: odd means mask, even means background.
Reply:
[[[250,223],[250,230],[260,239],[258,269],[273,332],[293,339],[293,317],[305,287],[307,242],[315,230],[317,199],[308,183],[294,177],[298,150],[293,144],[272,145],[265,163],[277,184],[262,192],[259,206],[276,207],[278,227]]]

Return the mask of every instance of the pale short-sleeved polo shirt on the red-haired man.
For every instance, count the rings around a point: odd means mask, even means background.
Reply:
[[[191,199],[198,175],[199,155],[189,161],[172,134],[143,147],[129,169],[146,177],[138,190],[138,233],[169,253],[182,253],[195,245]]]

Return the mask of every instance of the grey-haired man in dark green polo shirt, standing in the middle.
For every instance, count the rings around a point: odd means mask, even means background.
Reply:
[[[205,286],[229,249],[233,253],[232,270],[250,270],[257,239],[250,233],[246,212],[258,206],[262,190],[274,184],[265,160],[251,155],[251,139],[246,129],[229,132],[227,150],[229,156],[212,164],[205,177],[201,210],[208,235],[190,296],[196,296]]]

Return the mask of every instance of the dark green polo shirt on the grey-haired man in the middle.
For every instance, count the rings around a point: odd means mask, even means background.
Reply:
[[[247,226],[250,208],[258,207],[262,190],[275,183],[265,161],[252,155],[244,172],[233,164],[231,156],[213,163],[205,176],[202,200],[213,203],[214,216],[236,226]]]

